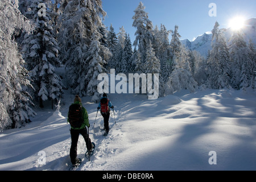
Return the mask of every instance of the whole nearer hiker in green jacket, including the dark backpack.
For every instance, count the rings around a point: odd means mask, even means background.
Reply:
[[[86,148],[88,151],[92,150],[92,142],[90,141],[90,138],[88,137],[88,132],[86,129],[86,126],[89,128],[89,119],[88,119],[88,113],[85,109],[85,107],[82,106],[81,98],[79,96],[75,97],[74,103],[69,107],[68,111],[68,122],[71,124],[71,149],[70,149],[70,158],[71,163],[73,166],[75,166],[77,163],[79,163],[79,159],[77,159],[77,142],[79,140],[79,135],[81,134],[82,137],[84,137]],[[76,109],[73,111],[73,107],[77,107],[80,109]],[[74,112],[78,112],[75,113]]]

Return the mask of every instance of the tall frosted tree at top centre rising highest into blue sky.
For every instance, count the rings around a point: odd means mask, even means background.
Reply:
[[[135,15],[133,16],[133,27],[137,28],[133,46],[138,46],[138,51],[141,52],[142,63],[145,63],[146,61],[147,45],[154,39],[152,35],[152,22],[148,19],[148,13],[146,13],[144,9],[145,7],[143,3],[140,2],[137,9],[134,11]]]

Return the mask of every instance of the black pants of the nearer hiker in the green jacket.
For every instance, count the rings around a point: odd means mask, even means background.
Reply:
[[[92,149],[92,142],[90,141],[90,138],[88,137],[87,134],[87,129],[85,127],[85,129],[82,130],[70,130],[71,133],[71,148],[70,148],[70,159],[71,159],[71,163],[72,164],[76,164],[76,160],[77,160],[77,142],[79,140],[79,135],[81,134],[82,137],[84,137],[85,143],[86,143],[86,148],[87,150],[91,150]]]

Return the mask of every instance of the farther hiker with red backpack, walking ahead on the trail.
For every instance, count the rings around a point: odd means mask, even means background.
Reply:
[[[105,102],[105,103],[104,103]],[[106,107],[106,106],[107,107]],[[114,108],[110,100],[108,99],[108,96],[106,93],[102,95],[100,104],[98,104],[98,110],[101,109],[101,115],[104,118],[104,129],[106,133],[109,132],[109,116],[110,116],[110,109],[109,108]]]

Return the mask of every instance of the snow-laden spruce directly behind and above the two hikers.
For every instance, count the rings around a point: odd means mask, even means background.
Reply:
[[[89,82],[87,85],[87,96],[93,96],[92,101],[97,102],[100,100],[100,94],[97,91],[97,86],[100,81],[97,80],[97,77],[100,73],[107,72],[103,67],[106,64],[104,57],[101,57],[100,51],[104,50],[104,55],[111,55],[108,48],[105,48],[99,42],[100,35],[97,35],[97,32],[92,36],[92,42],[90,44],[90,48],[86,54],[86,63],[88,63],[88,71],[85,77],[80,77],[80,84],[84,84],[85,82]],[[81,85],[79,88],[83,88],[85,85]],[[83,90],[76,90],[77,93],[83,92]]]

